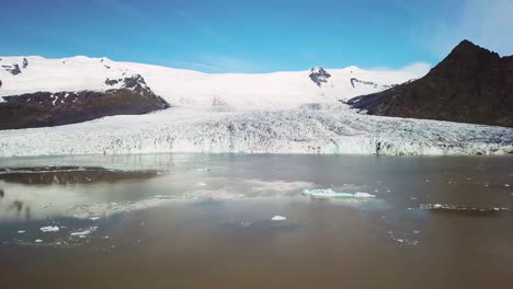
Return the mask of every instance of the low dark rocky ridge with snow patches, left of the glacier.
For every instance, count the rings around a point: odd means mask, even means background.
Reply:
[[[146,114],[169,107],[140,76],[125,78],[121,89],[105,92],[36,92],[4,96],[0,129],[58,126],[124,114]]]

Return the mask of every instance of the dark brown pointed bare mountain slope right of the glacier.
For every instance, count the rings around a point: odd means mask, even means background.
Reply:
[[[513,127],[513,56],[464,41],[422,79],[349,104],[372,115]]]

